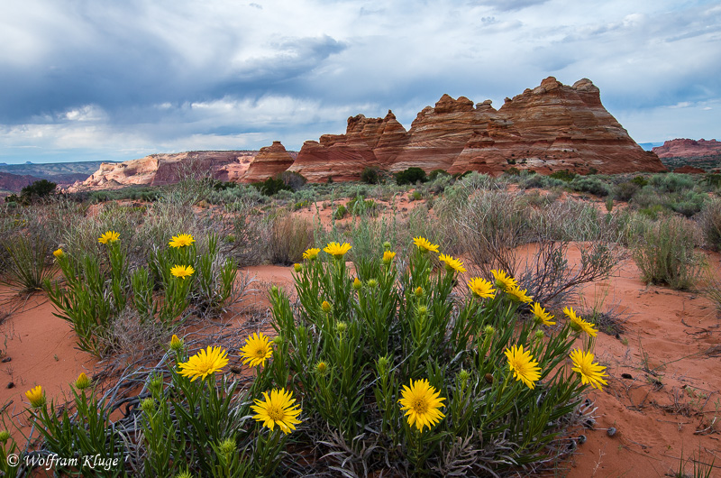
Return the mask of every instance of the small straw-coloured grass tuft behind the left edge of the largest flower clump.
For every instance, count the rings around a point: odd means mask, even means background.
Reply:
[[[313,226],[301,217],[278,214],[271,219],[269,260],[290,265],[303,259],[303,251],[313,242]]]

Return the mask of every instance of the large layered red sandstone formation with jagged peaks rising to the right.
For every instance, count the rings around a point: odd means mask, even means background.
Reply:
[[[351,117],[345,134],[304,143],[290,170],[312,181],[344,180],[359,179],[367,166],[490,174],[510,167],[545,174],[665,170],[607,112],[589,79],[569,87],[552,77],[506,98],[498,110],[490,100],[474,106],[466,97],[443,95],[407,132],[390,111],[382,119]]]

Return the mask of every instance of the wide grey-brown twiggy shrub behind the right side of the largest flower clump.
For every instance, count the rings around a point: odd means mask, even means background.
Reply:
[[[618,244],[624,224],[616,218],[621,216],[599,217],[595,207],[579,201],[536,210],[522,195],[478,190],[466,200],[444,202],[443,212],[439,207],[441,220],[434,228],[457,238],[453,253],[467,254],[481,275],[509,271],[550,305],[561,303],[583,283],[607,277],[622,254]],[[565,259],[572,241],[588,242],[579,247],[580,267]]]

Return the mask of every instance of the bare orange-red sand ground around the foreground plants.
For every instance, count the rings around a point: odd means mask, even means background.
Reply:
[[[578,261],[578,255],[571,252],[570,262]],[[709,262],[713,271],[721,271],[717,255]],[[248,271],[261,285],[292,288],[291,268],[260,266]],[[588,310],[594,296],[597,302],[605,298],[602,310],[619,303],[617,311],[627,318],[626,331],[619,338],[598,334],[596,355],[608,367],[608,385],[603,391],[589,392],[598,407],[596,423],[593,429],[573,432],[572,437],[583,434],[588,440],[556,474],[658,477],[678,471],[681,455],[684,460],[698,457],[700,450],[704,462],[716,459],[712,475],[719,476],[721,322],[716,309],[696,292],[646,286],[638,276],[634,262],[625,260],[613,277],[586,287],[586,307],[577,304],[577,310]],[[262,294],[255,294],[258,306],[266,307]],[[0,402],[12,400],[8,410],[22,416],[24,391],[41,384],[49,399],[59,398],[79,372],[92,372],[96,360],[75,348],[70,327],[52,315],[53,308],[43,295],[24,304],[16,299],[2,304],[0,312],[16,309],[0,326],[7,339],[5,356],[12,359],[0,363],[5,372]],[[0,337],[0,345],[3,340]],[[622,378],[622,373],[629,378]],[[5,388],[10,381],[14,388]],[[616,427],[615,436],[607,435],[608,427]],[[686,473],[692,471],[688,463]]]

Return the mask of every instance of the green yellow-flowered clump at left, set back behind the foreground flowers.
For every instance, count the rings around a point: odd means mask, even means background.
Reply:
[[[233,293],[235,262],[222,259],[212,235],[207,252],[198,254],[195,239],[179,234],[169,247],[151,249],[147,266],[134,269],[120,234],[107,231],[98,242],[101,254],[58,249],[53,255],[64,281],[44,280],[56,315],[69,322],[79,348],[91,354],[110,351],[114,321],[122,314],[134,312],[141,324],[171,326],[190,313],[219,315]]]

